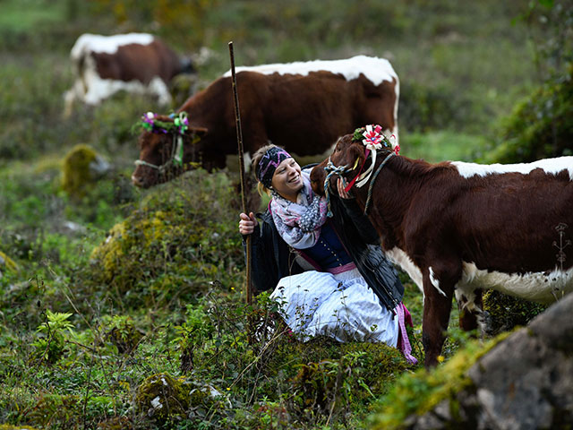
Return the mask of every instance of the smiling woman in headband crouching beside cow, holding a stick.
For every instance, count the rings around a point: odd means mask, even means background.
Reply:
[[[381,341],[409,361],[404,287],[382,254],[379,237],[338,180],[338,196],[327,202],[312,192],[312,168],[300,168],[286,150],[267,145],[253,155],[259,192],[269,193],[260,216],[240,214],[239,232],[252,235],[252,282],[274,288],[295,334],[322,334],[339,341]],[[334,193],[332,193],[334,194]],[[411,320],[409,321],[411,323]]]

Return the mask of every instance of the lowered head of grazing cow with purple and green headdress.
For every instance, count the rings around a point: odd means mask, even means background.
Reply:
[[[140,159],[135,161],[133,185],[149,188],[201,165],[201,136],[206,128],[188,124],[184,115],[146,114],[141,125]]]

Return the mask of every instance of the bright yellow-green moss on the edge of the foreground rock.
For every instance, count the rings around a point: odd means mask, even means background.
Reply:
[[[408,417],[423,415],[443,400],[449,400],[452,417],[456,417],[456,393],[473,385],[466,371],[508,335],[503,333],[484,345],[470,341],[447,363],[430,371],[420,369],[415,374],[404,374],[380,400],[381,412],[371,417],[372,429],[405,428]]]

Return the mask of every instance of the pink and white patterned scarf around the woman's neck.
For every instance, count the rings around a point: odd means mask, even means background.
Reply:
[[[324,197],[316,195],[311,187],[311,170],[304,169],[303,189],[296,202],[290,202],[272,191],[270,211],[278,234],[295,249],[306,249],[316,244],[328,211]]]

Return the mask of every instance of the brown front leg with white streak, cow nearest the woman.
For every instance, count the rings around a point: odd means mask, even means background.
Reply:
[[[461,273],[461,265],[459,268],[456,266],[442,262],[440,266],[429,266],[423,271],[422,343],[426,367],[438,364],[446,340],[454,286]]]

